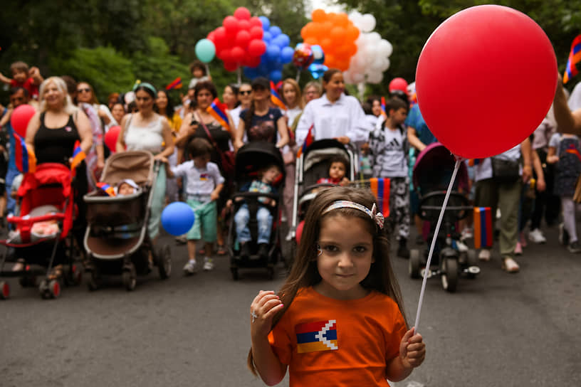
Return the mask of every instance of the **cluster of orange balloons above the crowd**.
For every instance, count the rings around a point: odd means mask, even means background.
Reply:
[[[357,53],[355,40],[359,36],[359,28],[345,13],[327,14],[323,9],[315,9],[311,16],[313,21],[300,30],[304,43],[320,46],[328,67],[347,70],[351,57]]]

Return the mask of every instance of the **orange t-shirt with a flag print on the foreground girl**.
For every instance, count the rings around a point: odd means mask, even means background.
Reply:
[[[342,300],[307,287],[299,290],[268,341],[288,364],[290,386],[389,386],[387,363],[399,355],[406,330],[387,295],[371,292]]]

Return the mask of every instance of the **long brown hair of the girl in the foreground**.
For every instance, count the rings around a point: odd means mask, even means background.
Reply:
[[[336,215],[357,217],[365,220],[369,232],[373,235],[374,263],[371,264],[370,272],[365,277],[365,280],[362,280],[361,285],[365,289],[375,290],[392,298],[397,303],[399,311],[402,312],[407,322],[402,292],[399,290],[392,264],[389,261],[389,233],[387,232],[387,226],[384,229],[380,229],[367,213],[354,208],[338,208],[323,215],[323,211],[328,206],[339,200],[353,201],[367,208],[372,208],[373,204],[376,203],[375,197],[367,189],[340,186],[325,189],[313,199],[313,203],[310,204],[305,216],[305,226],[293,267],[290,268],[286,281],[283,283],[281,290],[278,291],[278,297],[280,297],[284,307],[273,318],[271,329],[281,320],[300,288],[310,287],[320,282],[321,277],[317,270],[316,248],[320,225],[323,219]],[[252,349],[248,352],[248,369],[254,375],[257,375],[256,367],[253,363]]]

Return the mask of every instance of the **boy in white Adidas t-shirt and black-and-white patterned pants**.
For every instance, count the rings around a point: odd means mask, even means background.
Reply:
[[[370,164],[374,177],[389,178],[389,217],[397,223],[397,256],[409,258],[409,177],[406,129],[408,105],[397,97],[387,103],[387,117],[370,134]],[[381,118],[380,118],[381,120]]]

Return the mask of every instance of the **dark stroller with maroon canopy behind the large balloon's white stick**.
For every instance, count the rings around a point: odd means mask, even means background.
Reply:
[[[458,221],[473,211],[466,195],[459,192],[459,188],[468,191],[468,171],[464,163],[460,164],[439,233],[434,235],[455,163],[454,156],[444,145],[430,144],[417,157],[413,175],[414,188],[420,199],[419,216],[429,222],[429,234],[423,235],[427,242],[423,255],[417,249],[409,252],[409,276],[419,278],[439,275],[442,287],[448,292],[456,290],[461,274],[473,278],[480,272],[476,251],[459,241],[460,233],[456,227]],[[436,245],[431,268],[426,273],[425,265],[432,238],[436,238]]]

